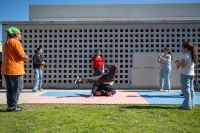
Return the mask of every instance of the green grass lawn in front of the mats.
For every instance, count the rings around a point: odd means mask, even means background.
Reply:
[[[4,112],[0,132],[191,132],[200,131],[200,105],[178,110],[177,105],[21,105],[22,112]]]

